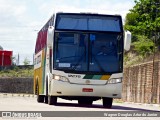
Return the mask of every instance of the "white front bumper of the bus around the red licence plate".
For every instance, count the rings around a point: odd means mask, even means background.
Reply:
[[[84,92],[83,89],[93,89]],[[51,80],[49,83],[49,95],[51,96],[87,96],[121,98],[122,83],[106,85],[71,84],[69,82]]]

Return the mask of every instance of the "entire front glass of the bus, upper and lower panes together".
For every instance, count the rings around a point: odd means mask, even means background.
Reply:
[[[120,16],[58,14],[54,34],[54,69],[115,73],[123,69]]]

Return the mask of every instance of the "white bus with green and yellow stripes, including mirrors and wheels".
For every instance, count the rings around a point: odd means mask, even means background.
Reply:
[[[34,94],[56,105],[58,98],[111,108],[121,98],[123,53],[131,33],[120,15],[55,13],[38,32],[34,55]]]

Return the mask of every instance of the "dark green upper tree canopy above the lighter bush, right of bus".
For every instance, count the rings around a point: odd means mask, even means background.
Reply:
[[[126,15],[125,29],[132,32],[133,41],[138,40],[137,35],[152,39],[155,33],[160,32],[160,1],[135,0],[135,3]]]

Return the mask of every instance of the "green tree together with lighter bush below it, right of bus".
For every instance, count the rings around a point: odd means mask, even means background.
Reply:
[[[160,0],[135,0],[124,28],[131,31],[133,46],[141,56],[160,48]]]

